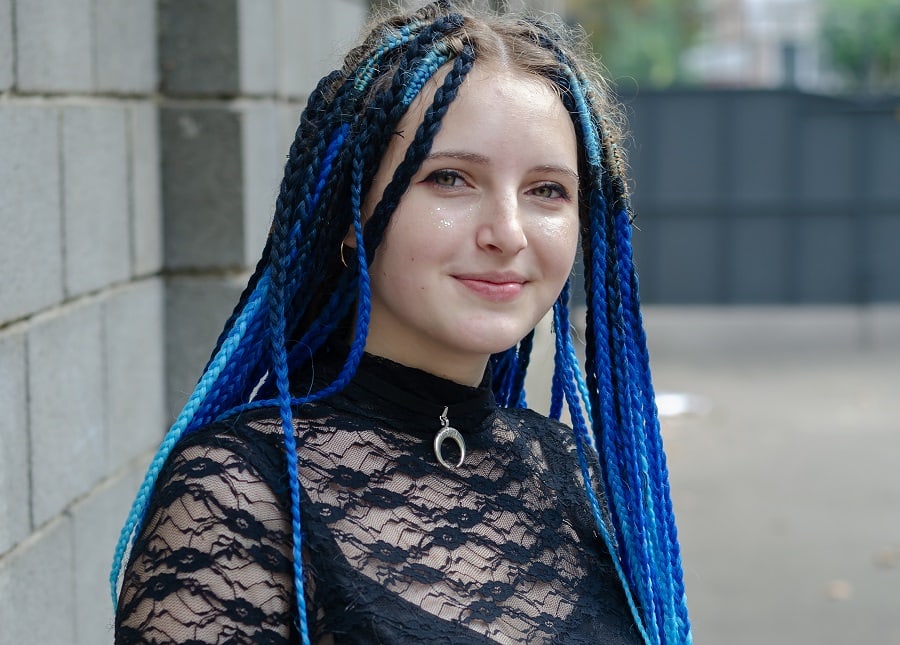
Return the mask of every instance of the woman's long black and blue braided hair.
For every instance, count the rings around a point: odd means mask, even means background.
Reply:
[[[691,643],[668,473],[650,380],[632,263],[632,213],[618,149],[618,111],[602,77],[578,55],[577,39],[549,17],[454,8],[437,0],[378,23],[311,94],[290,148],[272,228],[256,270],[225,324],[194,392],[164,438],[122,529],[110,584],[140,532],[166,459],[186,434],[258,407],[279,410],[291,495],[297,628],[309,642],[303,530],[292,408],[344,388],[365,347],[368,264],[441,119],[473,64],[489,60],[542,79],[559,95],[579,147],[579,205],[585,261],[587,344],[579,362],[569,333],[569,285],[553,306],[555,369],[550,415],[568,407],[596,527],[613,555],[647,643]],[[438,70],[448,70],[365,221],[362,202],[394,130]],[[347,231],[356,238],[342,266]],[[348,324],[350,321],[350,324]],[[320,390],[292,397],[289,376],[330,338],[355,329],[344,365]],[[491,357],[502,406],[524,407],[533,332]],[[589,455],[599,456],[604,501]]]

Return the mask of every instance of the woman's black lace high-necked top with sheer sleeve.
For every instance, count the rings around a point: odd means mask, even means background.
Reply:
[[[327,380],[334,361],[319,361]],[[464,463],[437,463],[448,407]],[[590,515],[571,431],[366,356],[295,410],[314,643],[639,643]],[[447,441],[448,462],[456,463]],[[278,411],[184,439],[124,575],[117,643],[294,643],[290,501]]]

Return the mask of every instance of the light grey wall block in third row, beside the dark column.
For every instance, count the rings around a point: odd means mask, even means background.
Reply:
[[[104,303],[109,448],[106,472],[159,443],[164,402],[163,286],[159,278],[129,285]]]

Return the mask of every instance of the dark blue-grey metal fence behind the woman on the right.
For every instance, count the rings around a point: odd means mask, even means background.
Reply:
[[[900,97],[626,102],[644,302],[900,302]]]

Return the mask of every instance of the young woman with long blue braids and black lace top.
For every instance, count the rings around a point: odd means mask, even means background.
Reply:
[[[123,529],[117,642],[691,641],[616,112],[588,60],[547,19],[436,2],[322,79]],[[565,400],[573,428],[525,408],[551,310],[550,416]]]

